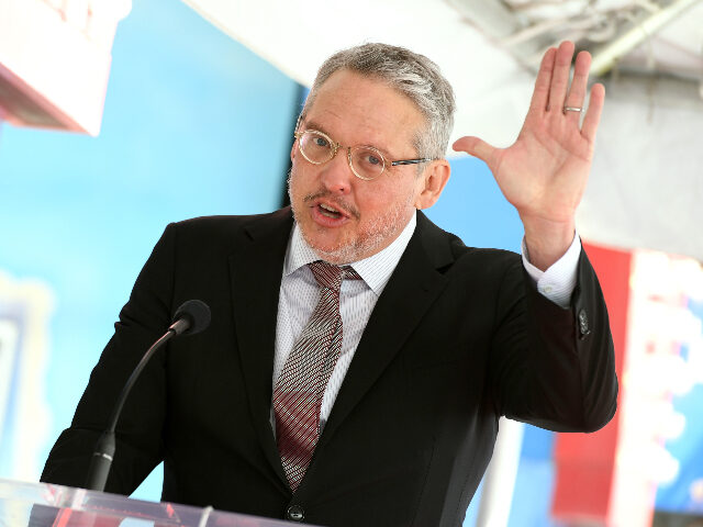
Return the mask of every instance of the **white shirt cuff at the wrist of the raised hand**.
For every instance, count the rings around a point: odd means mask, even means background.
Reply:
[[[546,271],[537,269],[529,262],[527,245],[523,237],[523,266],[534,280],[537,291],[560,307],[569,307],[571,293],[576,288],[579,257],[581,256],[581,239],[573,235],[573,242],[561,258],[555,261]]]

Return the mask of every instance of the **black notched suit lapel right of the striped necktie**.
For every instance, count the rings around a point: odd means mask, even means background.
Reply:
[[[446,285],[437,269],[453,260],[446,233],[417,213],[415,233],[373,309],[317,449],[324,447],[395,357]]]

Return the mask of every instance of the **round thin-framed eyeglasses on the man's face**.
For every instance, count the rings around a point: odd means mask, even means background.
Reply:
[[[298,139],[298,148],[305,159],[313,165],[323,165],[337,155],[343,146],[330,138],[327,134],[316,130],[306,130],[293,134]],[[372,146],[347,146],[347,160],[354,175],[366,181],[378,178],[386,167],[397,165],[417,165],[420,162],[432,161],[429,158],[422,159],[399,159],[389,161],[378,148]]]

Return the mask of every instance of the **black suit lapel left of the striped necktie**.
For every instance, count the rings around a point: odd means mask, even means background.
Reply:
[[[234,324],[252,421],[265,456],[286,489],[269,416],[278,298],[291,228],[289,209],[254,220],[230,256]]]

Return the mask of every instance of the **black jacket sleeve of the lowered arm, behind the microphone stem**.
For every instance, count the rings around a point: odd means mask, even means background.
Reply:
[[[172,314],[175,227],[169,225],[142,269],[115,332],[76,410],[46,461],[41,481],[85,486],[90,459],[108,426],[118,395]],[[130,494],[163,458],[165,421],[165,346],[134,384],[116,426],[116,451],[105,491]]]

